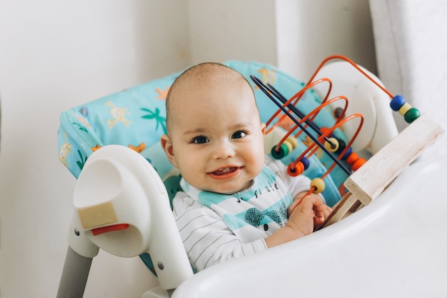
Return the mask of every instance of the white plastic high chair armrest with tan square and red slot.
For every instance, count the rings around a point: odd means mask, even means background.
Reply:
[[[91,154],[76,183],[74,209],[79,237],[119,257],[151,254],[163,289],[193,275],[166,188],[134,150],[108,145]]]

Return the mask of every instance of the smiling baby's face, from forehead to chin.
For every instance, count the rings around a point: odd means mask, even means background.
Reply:
[[[245,81],[196,88],[170,113],[170,160],[186,182],[221,194],[251,186],[263,167],[264,124]]]

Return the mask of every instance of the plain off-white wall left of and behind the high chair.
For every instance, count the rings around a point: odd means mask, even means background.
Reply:
[[[75,182],[57,158],[60,112],[186,66],[185,10],[176,0],[0,1],[1,297],[56,297]],[[139,259],[103,253],[86,297],[140,297],[151,282]]]

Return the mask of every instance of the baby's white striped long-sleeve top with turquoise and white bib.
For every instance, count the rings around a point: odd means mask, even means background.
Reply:
[[[265,238],[287,222],[287,208],[310,179],[291,177],[279,161],[266,157],[250,188],[236,194],[205,192],[183,179],[173,201],[174,217],[191,264],[204,269],[266,250]]]

